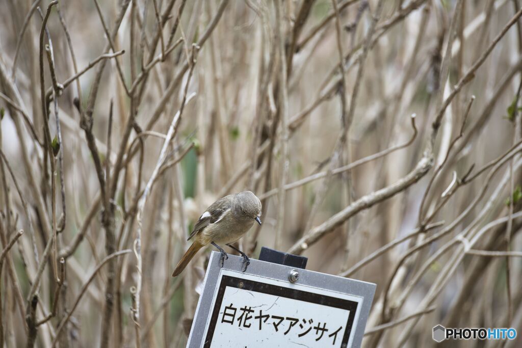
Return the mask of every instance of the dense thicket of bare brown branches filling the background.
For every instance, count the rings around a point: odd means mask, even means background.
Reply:
[[[520,7],[0,1],[0,344],[183,346],[243,189],[242,250],[377,283],[364,346],[521,329]]]

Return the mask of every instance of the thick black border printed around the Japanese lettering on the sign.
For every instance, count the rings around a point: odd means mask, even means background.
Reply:
[[[210,343],[212,342],[212,337],[214,335],[214,330],[216,329],[216,323],[219,317],[219,309],[221,308],[223,295],[227,286],[235,287],[237,289],[260,292],[268,295],[298,299],[300,301],[310,302],[328,307],[347,309],[350,311],[350,314],[348,315],[348,321],[346,323],[345,334],[342,337],[341,347],[346,347],[348,345],[348,340],[350,339],[350,332],[353,328],[353,320],[355,319],[355,312],[357,311],[357,306],[359,305],[359,303],[344,298],[337,298],[332,296],[316,294],[313,292],[291,289],[290,287],[286,286],[267,284],[249,279],[231,277],[230,275],[223,275],[223,277],[221,278],[221,282],[219,283],[218,294],[216,297],[216,303],[214,304],[214,309],[212,310],[212,316],[210,317],[210,325],[208,327],[207,337],[205,338],[204,344],[205,348],[209,348]]]

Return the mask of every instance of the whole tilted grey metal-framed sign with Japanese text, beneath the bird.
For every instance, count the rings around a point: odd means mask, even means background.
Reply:
[[[359,347],[375,284],[212,252],[187,347]]]

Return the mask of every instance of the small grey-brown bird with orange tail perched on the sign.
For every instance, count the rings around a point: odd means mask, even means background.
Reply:
[[[261,201],[251,191],[243,191],[239,194],[228,195],[213,202],[207,210],[201,214],[194,225],[194,229],[187,241],[194,237],[194,242],[188,248],[185,255],[177,263],[172,277],[179,275],[188,262],[192,260],[197,251],[208,244],[218,248],[221,253],[221,267],[228,259],[227,253],[218,245],[228,245],[241,254],[245,269],[250,265],[250,259],[243,251],[231,244],[238,241],[254,224],[261,224]]]

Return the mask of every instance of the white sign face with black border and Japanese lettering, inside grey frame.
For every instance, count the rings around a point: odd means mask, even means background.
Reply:
[[[268,278],[259,282],[259,277],[238,273],[221,273],[213,307],[218,316],[212,316],[207,331],[210,346],[340,348],[343,341],[350,344],[347,328],[353,325],[362,297]]]

